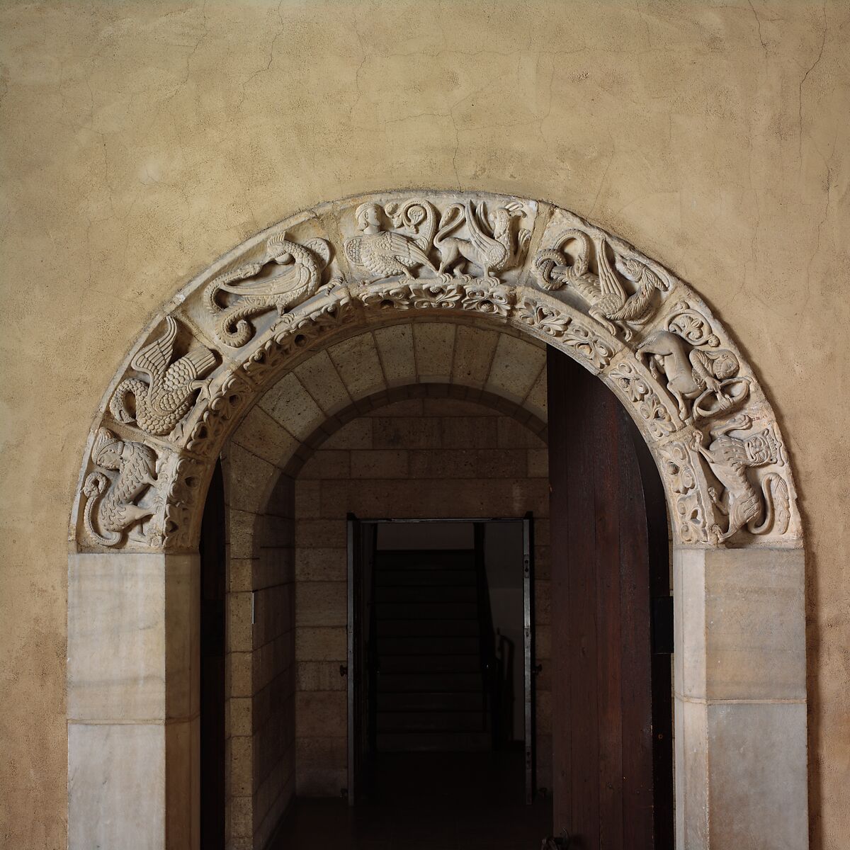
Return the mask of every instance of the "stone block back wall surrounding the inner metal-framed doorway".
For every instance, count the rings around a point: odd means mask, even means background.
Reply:
[[[419,385],[411,388],[433,389]],[[424,393],[422,393],[424,395]],[[346,514],[535,516],[538,785],[552,787],[548,458],[541,436],[491,407],[410,398],[348,422],[295,487],[297,793],[339,796],[347,779]]]

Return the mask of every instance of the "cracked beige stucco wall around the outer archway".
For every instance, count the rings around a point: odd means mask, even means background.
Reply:
[[[847,3],[3,3],[0,836],[65,845],[65,537],[150,314],[297,207],[544,197],[737,336],[808,534],[813,847],[850,834]]]

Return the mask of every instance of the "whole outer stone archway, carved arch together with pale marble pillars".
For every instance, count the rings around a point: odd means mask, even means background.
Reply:
[[[71,516],[70,846],[131,830],[196,846],[194,553],[215,460],[316,352],[381,392],[357,339],[423,321],[553,345],[621,399],[672,517],[678,844],[803,846],[802,527],[753,371],[688,286],[572,213],[425,191],[246,241],[178,292],[105,394]],[[509,350],[503,369],[509,386]]]

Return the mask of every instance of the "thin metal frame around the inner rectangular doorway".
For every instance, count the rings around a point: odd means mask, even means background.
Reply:
[[[354,681],[358,674],[357,660],[354,655],[354,582],[360,581],[362,576],[357,570],[356,558],[354,556],[355,541],[358,539],[357,530],[364,525],[386,525],[386,524],[435,524],[435,523],[522,523],[523,525],[523,666],[524,666],[524,721],[525,721],[525,802],[530,804],[535,796],[534,768],[536,762],[535,747],[535,699],[534,699],[534,558],[532,530],[534,515],[529,511],[523,517],[429,517],[429,518],[401,518],[376,517],[364,519],[348,514],[348,618],[346,622],[347,638],[347,678],[346,683],[348,697],[348,805],[353,806],[356,791],[356,771],[354,769],[354,749],[356,745],[354,735],[354,711],[355,694]]]

